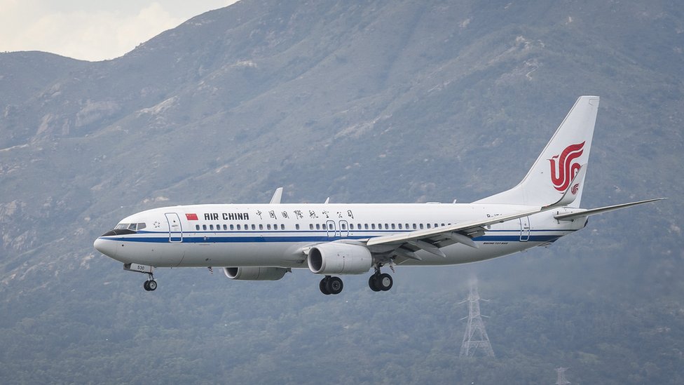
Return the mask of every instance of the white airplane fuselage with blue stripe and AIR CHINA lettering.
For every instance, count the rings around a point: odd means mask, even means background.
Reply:
[[[319,243],[354,243],[503,216],[526,207],[456,203],[183,205],[126,217],[121,224],[144,224],[144,228],[130,234],[105,234],[97,239],[96,247],[125,264],[306,268],[306,248]],[[565,209],[488,226],[484,235],[473,238],[477,248],[453,243],[442,248],[446,257],[418,250],[418,259],[399,259],[397,263],[444,265],[481,261],[547,244],[584,227],[584,220],[554,219],[559,211]]]

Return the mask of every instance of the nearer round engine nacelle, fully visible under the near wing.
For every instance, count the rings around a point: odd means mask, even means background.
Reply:
[[[306,262],[316,274],[362,274],[371,269],[373,257],[362,245],[322,243],[310,248]]]

